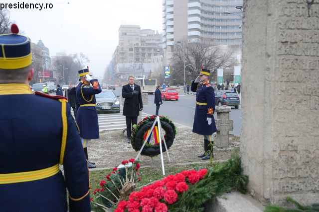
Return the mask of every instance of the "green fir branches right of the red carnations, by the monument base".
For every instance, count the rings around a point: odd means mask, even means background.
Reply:
[[[235,189],[246,193],[248,176],[241,175],[241,160],[232,156],[227,162],[218,163],[207,169],[205,177],[198,183],[189,186],[187,192],[178,197],[177,202],[167,205],[173,212],[201,212],[203,204],[217,196]]]

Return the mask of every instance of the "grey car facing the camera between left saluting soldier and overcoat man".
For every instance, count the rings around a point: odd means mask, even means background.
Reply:
[[[119,97],[112,90],[102,89],[101,93],[95,94],[97,112],[120,113]]]

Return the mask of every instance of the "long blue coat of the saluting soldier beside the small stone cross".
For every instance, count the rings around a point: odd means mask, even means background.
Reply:
[[[217,131],[214,121],[215,92],[214,88],[207,82],[191,83],[191,91],[196,92],[196,109],[193,124],[193,133],[199,135],[212,135]],[[212,118],[208,125],[207,118]]]

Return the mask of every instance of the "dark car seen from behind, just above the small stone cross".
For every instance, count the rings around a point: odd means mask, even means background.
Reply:
[[[215,92],[216,105],[234,106],[236,109],[240,105],[240,99],[236,92],[230,90],[217,90]]]

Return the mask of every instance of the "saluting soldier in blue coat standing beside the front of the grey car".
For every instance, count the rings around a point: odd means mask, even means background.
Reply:
[[[89,68],[80,70],[78,73],[81,81],[76,88],[76,98],[80,107],[76,112],[76,122],[79,126],[88,167],[96,168],[95,163],[89,161],[88,144],[89,140],[100,138],[98,113],[95,108],[95,94],[101,93],[102,88],[97,79],[92,79]]]

